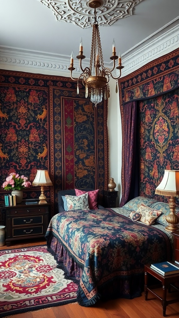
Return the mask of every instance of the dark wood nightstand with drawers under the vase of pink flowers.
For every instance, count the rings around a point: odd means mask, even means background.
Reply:
[[[19,239],[44,237],[48,227],[50,203],[20,203],[4,206],[6,219],[6,245]]]

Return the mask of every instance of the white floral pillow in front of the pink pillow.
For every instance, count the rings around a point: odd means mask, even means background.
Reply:
[[[89,210],[88,193],[81,196],[68,196],[66,195],[67,208],[69,210]]]

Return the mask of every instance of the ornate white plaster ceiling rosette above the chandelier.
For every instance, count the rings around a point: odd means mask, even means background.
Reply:
[[[110,26],[132,15],[132,9],[143,0],[38,0],[51,9],[57,21],[71,22],[82,29],[94,23],[94,3],[98,25]],[[90,7],[92,6],[92,7]]]

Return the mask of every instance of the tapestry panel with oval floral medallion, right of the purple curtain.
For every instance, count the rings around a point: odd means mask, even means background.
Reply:
[[[179,169],[179,89],[140,101],[140,195],[155,195],[164,170]]]

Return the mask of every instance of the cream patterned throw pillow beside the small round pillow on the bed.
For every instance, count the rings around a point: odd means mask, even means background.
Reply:
[[[155,222],[155,219],[161,215],[161,211],[154,210],[148,206],[141,204],[136,212],[141,214],[140,221],[146,225],[152,225]]]

